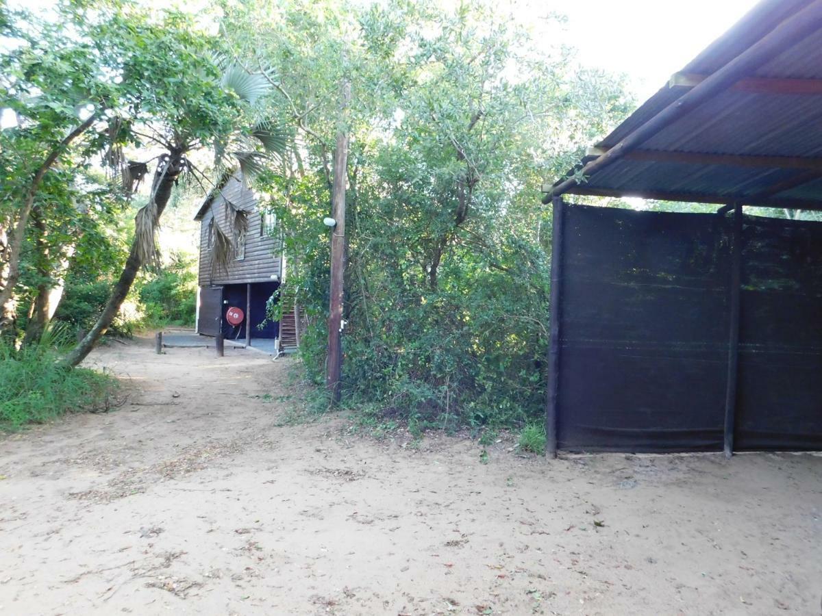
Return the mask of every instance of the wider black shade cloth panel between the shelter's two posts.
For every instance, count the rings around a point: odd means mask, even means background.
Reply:
[[[721,449],[727,223],[565,209],[559,448]]]

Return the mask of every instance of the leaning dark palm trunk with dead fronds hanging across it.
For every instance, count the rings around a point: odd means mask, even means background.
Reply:
[[[157,220],[159,220],[159,217],[163,214],[165,206],[169,203],[169,197],[171,196],[171,189],[174,186],[174,181],[177,179],[180,172],[182,172],[182,153],[173,152],[167,161],[168,162],[165,165],[157,165],[157,169],[155,171],[155,182],[153,184],[153,188],[156,188],[155,204],[157,205]],[[99,315],[95,326],[91,328],[89,333],[85,334],[85,338],[78,342],[77,346],[72,349],[72,352],[66,356],[64,362],[67,365],[73,367],[83,361],[95,347],[97,342],[99,342],[99,339],[104,335],[104,333],[109,330],[114,317],[117,316],[120,311],[122,301],[126,299],[128,292],[131,290],[132,283],[134,283],[134,278],[136,278],[137,272],[140,270],[142,264],[139,238],[135,234],[134,240],[132,241],[132,249],[128,253],[128,259],[122,269],[120,278],[114,285],[109,301],[106,303],[102,314]]]

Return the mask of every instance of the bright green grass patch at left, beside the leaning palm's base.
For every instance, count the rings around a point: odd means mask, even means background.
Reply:
[[[0,430],[109,408],[116,381],[95,370],[63,365],[60,349],[70,341],[65,325],[49,328],[39,342],[20,350],[0,341]]]

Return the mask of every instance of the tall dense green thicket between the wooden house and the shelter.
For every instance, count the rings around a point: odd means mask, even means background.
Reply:
[[[266,178],[265,192],[285,233],[286,282],[310,323],[301,339],[309,374],[321,382],[326,367],[322,220],[344,125],[342,395],[355,421],[404,421],[417,434],[536,421],[552,235],[539,186],[575,163],[572,144],[627,111],[620,81],[548,49],[533,23],[502,15],[497,2],[305,2],[275,21],[255,10],[265,4],[227,8],[224,31],[249,62],[266,57],[304,118],[295,171]],[[354,22],[341,31],[326,15],[338,6]],[[356,101],[344,120],[337,99],[318,95],[342,76]]]

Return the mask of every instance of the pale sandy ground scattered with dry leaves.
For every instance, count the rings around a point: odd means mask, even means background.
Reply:
[[[0,437],[0,614],[820,614],[822,457],[482,463],[226,352],[110,345],[125,405]]]

